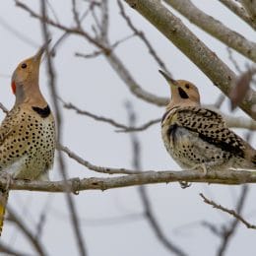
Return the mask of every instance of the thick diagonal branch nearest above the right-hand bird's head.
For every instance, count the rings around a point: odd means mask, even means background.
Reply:
[[[160,1],[125,1],[172,41],[228,96],[230,85],[236,79],[235,74],[194,33],[190,32],[180,19],[161,5]],[[242,101],[239,106],[256,119],[256,112],[251,109],[256,102],[255,92],[251,92],[251,96],[250,99]]]

